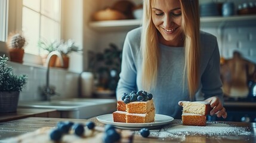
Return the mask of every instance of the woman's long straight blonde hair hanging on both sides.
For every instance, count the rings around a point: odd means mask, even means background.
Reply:
[[[185,65],[190,98],[193,98],[199,86],[200,62],[200,16],[198,0],[180,0],[181,29],[184,35]],[[159,48],[158,33],[152,21],[151,0],[144,0],[143,29],[141,35],[142,84],[149,91],[156,85],[158,74]]]

